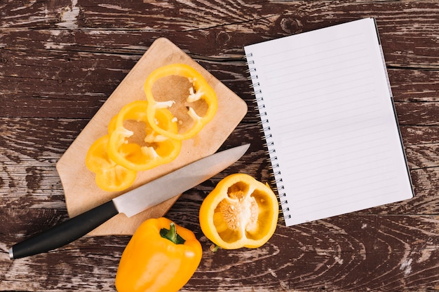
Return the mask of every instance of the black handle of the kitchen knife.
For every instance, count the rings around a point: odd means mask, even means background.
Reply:
[[[86,235],[118,213],[113,201],[101,204],[34,237],[13,245],[9,249],[9,257],[12,260],[57,249],[83,237],[83,235]]]

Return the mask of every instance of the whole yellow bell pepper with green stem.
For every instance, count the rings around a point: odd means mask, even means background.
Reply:
[[[168,229],[169,228],[169,229]],[[119,292],[177,292],[192,277],[203,250],[191,230],[151,218],[135,231],[116,273]]]

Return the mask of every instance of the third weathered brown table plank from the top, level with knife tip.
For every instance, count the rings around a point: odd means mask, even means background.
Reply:
[[[0,131],[6,134],[0,141],[0,195],[4,207],[32,209],[65,209],[64,193],[55,163],[72,143],[86,120],[18,119],[2,118]],[[31,127],[29,127],[31,125]],[[428,129],[428,128],[427,128]],[[264,152],[264,141],[257,124],[241,124],[231,134],[222,148],[250,143],[252,146],[230,172],[246,172],[262,181],[270,181],[271,170]],[[369,212],[378,214],[439,213],[439,197],[432,191],[438,185],[438,152],[436,137],[426,127],[402,127],[410,134],[405,139],[407,160],[412,169],[416,197],[410,202],[400,202]],[[50,133],[50,139],[47,135]],[[408,136],[407,134],[407,136]],[[420,143],[421,139],[428,139]],[[414,141],[416,144],[410,143]],[[218,176],[219,179],[221,176]]]

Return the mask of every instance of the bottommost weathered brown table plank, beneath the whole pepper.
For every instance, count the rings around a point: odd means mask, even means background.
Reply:
[[[194,199],[201,200],[199,193],[185,195],[168,213],[194,230],[203,245],[201,265],[182,291],[437,288],[439,222],[433,216],[345,215],[292,228],[278,225],[276,234],[257,252],[212,253],[193,216]],[[114,291],[114,274],[127,242],[128,237],[86,237],[13,262],[3,252],[0,263],[8,270],[0,275],[0,285],[28,291]],[[5,250],[3,244],[1,249]]]

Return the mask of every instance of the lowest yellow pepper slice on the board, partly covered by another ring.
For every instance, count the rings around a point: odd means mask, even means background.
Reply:
[[[95,173],[95,181],[102,190],[124,190],[135,181],[137,172],[118,165],[107,154],[109,136],[97,139],[88,149],[86,167]]]

